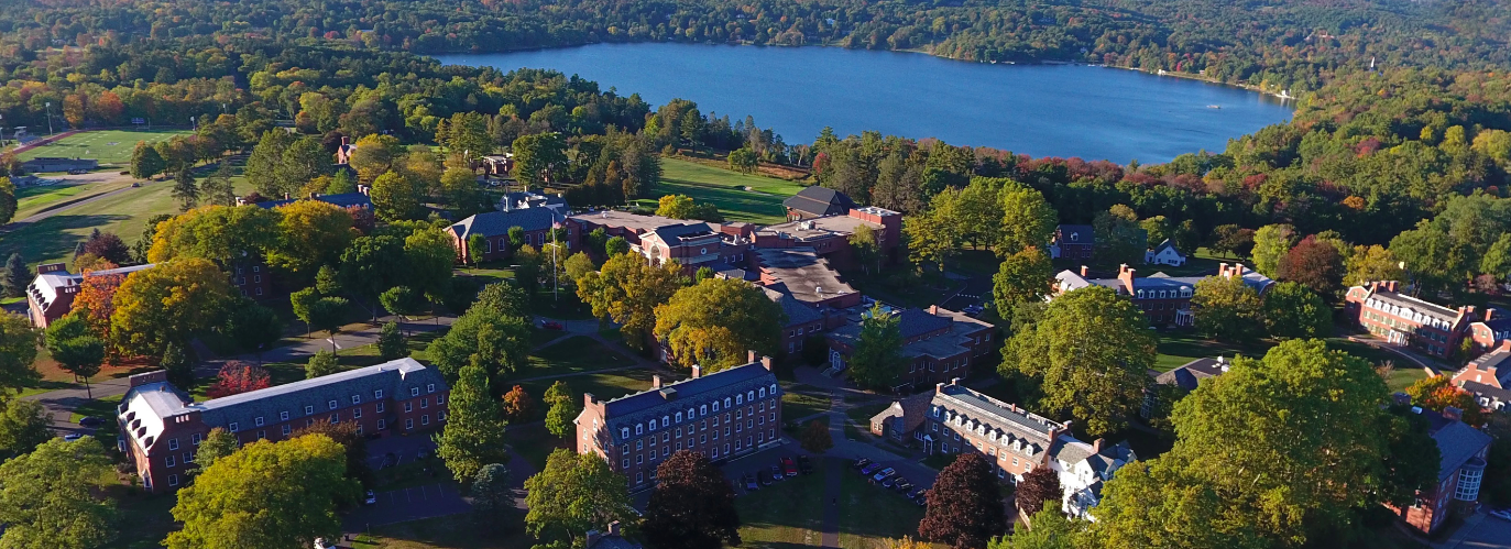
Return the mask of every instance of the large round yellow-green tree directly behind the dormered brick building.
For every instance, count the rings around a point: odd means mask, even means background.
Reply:
[[[1068,411],[1086,433],[1117,431],[1142,404],[1145,372],[1154,366],[1147,327],[1144,312],[1109,287],[1067,292],[1012,334],[999,371],[1041,380],[1040,407]]]

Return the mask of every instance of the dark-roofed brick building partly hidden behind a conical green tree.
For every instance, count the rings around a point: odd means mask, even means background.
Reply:
[[[861,324],[869,310],[858,312],[843,327],[825,337],[830,346],[830,368],[843,371],[855,351]],[[964,378],[978,357],[991,354],[996,328],[964,313],[929,306],[928,310],[904,309],[888,312],[898,316],[902,333],[902,357],[908,360],[907,372],[898,377],[895,390],[928,387],[949,380]]]

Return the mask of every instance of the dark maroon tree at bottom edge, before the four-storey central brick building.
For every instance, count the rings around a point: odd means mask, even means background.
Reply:
[[[707,457],[678,451],[656,467],[656,487],[645,505],[645,540],[662,549],[739,546],[740,516],[734,487]]]

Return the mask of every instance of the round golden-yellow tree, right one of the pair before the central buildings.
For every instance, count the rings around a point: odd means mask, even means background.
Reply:
[[[781,306],[765,292],[730,278],[680,289],[654,315],[656,339],[669,349],[671,363],[701,364],[709,374],[743,364],[748,351],[777,354],[787,324]]]

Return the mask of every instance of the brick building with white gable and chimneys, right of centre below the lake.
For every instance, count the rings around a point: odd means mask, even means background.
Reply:
[[[1275,283],[1269,277],[1245,268],[1242,263],[1218,263],[1216,275],[1224,278],[1239,277],[1248,287],[1253,287],[1259,293],[1265,293]],[[1189,327],[1195,324],[1195,316],[1191,312],[1191,296],[1195,293],[1197,283],[1203,278],[1206,277],[1170,277],[1163,272],[1139,277],[1138,269],[1127,266],[1127,263],[1118,266],[1115,278],[1094,278],[1091,277],[1091,271],[1082,266],[1079,274],[1067,269],[1055,275],[1055,295],[1058,296],[1088,286],[1111,287],[1118,295],[1133,299],[1133,304],[1148,318],[1150,325]]]

